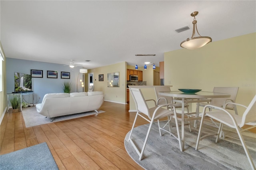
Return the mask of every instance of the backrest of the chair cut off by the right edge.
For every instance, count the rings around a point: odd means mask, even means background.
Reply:
[[[247,109],[244,111],[244,114],[242,116],[242,123],[240,127],[243,127],[244,124],[246,123],[254,122],[254,121],[256,121],[256,95],[252,99]]]

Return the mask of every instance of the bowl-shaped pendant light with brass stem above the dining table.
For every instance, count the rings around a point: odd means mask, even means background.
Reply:
[[[212,42],[212,38],[210,37],[202,37],[197,30],[196,27],[196,18],[195,16],[197,16],[198,11],[192,12],[190,15],[192,17],[194,17],[194,20],[192,22],[193,24],[193,32],[192,32],[192,37],[191,38],[187,38],[187,40],[183,41],[180,43],[180,46],[186,49],[197,49],[200,47],[203,47],[204,45],[208,44],[209,42]],[[195,33],[197,32],[197,34],[199,35],[198,37],[194,37]]]

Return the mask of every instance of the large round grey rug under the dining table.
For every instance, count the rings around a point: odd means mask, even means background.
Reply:
[[[149,124],[134,128],[132,139],[139,148],[142,148],[148,126]],[[213,130],[216,132],[217,128],[204,125],[202,132]],[[176,132],[175,127],[172,132]],[[126,134],[124,146],[130,157],[146,170],[251,169],[236,132],[224,127],[224,133],[224,140],[219,139],[218,143],[215,143],[215,136],[204,138],[200,141],[198,150],[195,150],[198,129],[193,128],[192,132],[189,132],[188,127],[185,127],[185,150],[181,152],[178,140],[167,133],[160,136],[158,125],[154,124],[142,160],[139,160],[137,152],[128,141],[130,132]],[[249,131],[242,134],[256,164],[256,134]]]

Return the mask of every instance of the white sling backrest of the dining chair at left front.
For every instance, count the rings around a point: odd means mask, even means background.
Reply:
[[[132,98],[134,99],[136,110],[138,112],[144,113],[151,119],[149,110],[148,110],[148,105],[141,93],[141,90],[136,88],[130,88],[130,92],[132,94]]]

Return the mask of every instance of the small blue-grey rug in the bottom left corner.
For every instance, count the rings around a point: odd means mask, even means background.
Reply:
[[[1,170],[58,170],[46,142],[0,155]]]

